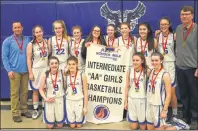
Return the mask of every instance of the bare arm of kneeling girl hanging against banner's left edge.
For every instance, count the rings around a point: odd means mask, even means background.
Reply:
[[[87,89],[87,77],[85,74],[82,74],[82,81],[83,81],[83,91],[84,91],[84,109],[83,113],[84,115],[87,114],[88,111],[88,89]]]

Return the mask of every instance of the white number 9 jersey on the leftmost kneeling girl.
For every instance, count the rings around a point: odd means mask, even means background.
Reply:
[[[46,78],[46,95],[47,97],[62,97],[64,96],[64,88],[63,88],[63,74],[61,70],[58,71],[56,87],[54,88],[52,80],[55,80],[56,74],[49,75]],[[52,78],[52,79],[51,79]]]

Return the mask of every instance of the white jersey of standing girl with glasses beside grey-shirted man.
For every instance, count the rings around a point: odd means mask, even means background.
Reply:
[[[164,38],[164,43],[166,42],[166,38]],[[159,35],[158,39],[158,51],[164,55],[164,61],[175,61],[175,53],[174,53],[174,37],[173,33],[168,35],[166,49],[164,51],[162,45],[162,33]]]

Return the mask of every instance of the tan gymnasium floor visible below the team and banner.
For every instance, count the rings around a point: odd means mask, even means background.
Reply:
[[[31,102],[29,102],[28,105],[30,105],[29,107],[31,108]],[[46,128],[46,125],[43,122],[41,122],[41,116],[36,120],[22,117],[22,120],[23,122],[21,123],[13,122],[12,114],[10,111],[10,102],[1,101],[1,129],[6,129],[6,128],[44,129]],[[65,126],[64,128],[70,129],[68,126]],[[126,121],[122,121],[118,123],[110,123],[110,124],[100,124],[100,125],[87,122],[81,129],[130,130],[129,125]]]

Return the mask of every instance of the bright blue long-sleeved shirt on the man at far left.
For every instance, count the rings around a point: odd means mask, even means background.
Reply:
[[[19,44],[22,44],[22,38],[17,37]],[[7,37],[2,45],[2,61],[4,68],[7,72],[13,71],[17,73],[28,72],[26,61],[26,48],[30,42],[30,38],[23,36],[23,49],[22,53],[19,46],[14,39],[14,35]]]

